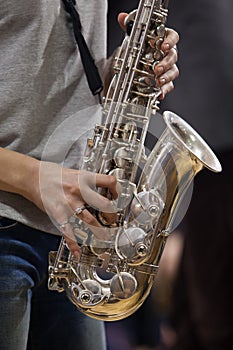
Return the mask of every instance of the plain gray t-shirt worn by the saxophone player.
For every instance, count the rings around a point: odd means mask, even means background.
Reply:
[[[107,1],[78,0],[77,8],[102,70]],[[62,1],[0,0],[0,17],[0,147],[79,166],[86,131],[98,119],[91,107],[97,101]],[[58,233],[46,214],[15,194],[0,191],[0,216]]]

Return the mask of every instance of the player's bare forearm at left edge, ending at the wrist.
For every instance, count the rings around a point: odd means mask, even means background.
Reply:
[[[0,190],[33,201],[38,188],[40,162],[24,154],[0,148]]]

